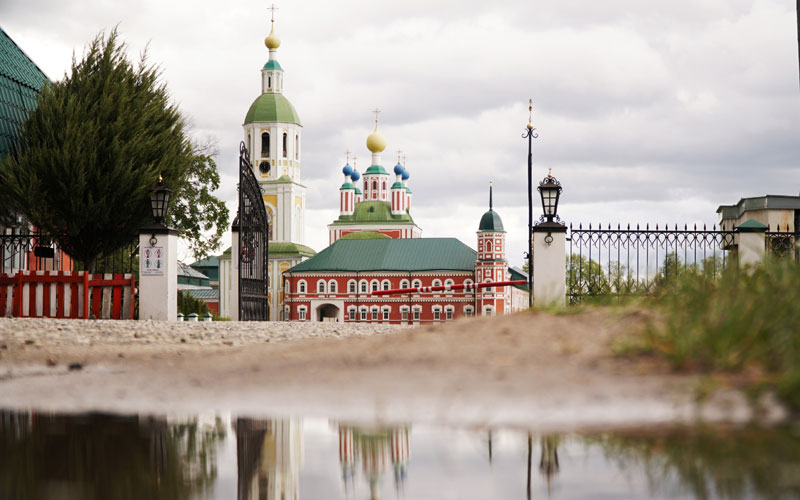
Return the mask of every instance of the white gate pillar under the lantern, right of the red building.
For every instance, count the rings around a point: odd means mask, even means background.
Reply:
[[[567,226],[533,226],[533,300],[537,307],[567,303]]]

